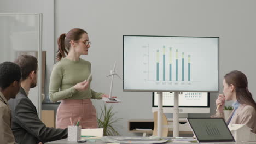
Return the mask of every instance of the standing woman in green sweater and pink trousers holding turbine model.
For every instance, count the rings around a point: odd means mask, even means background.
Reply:
[[[51,72],[49,98],[51,101],[61,100],[57,109],[56,128],[67,128],[81,118],[82,128],[97,128],[96,109],[92,99],[109,97],[90,88],[86,81],[91,73],[91,63],[81,59],[88,55],[90,40],[83,29],[74,28],[58,38],[57,62]],[[67,51],[68,50],[68,51]],[[67,56],[65,55],[67,54]]]

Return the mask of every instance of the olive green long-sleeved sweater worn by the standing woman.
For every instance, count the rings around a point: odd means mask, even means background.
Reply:
[[[90,71],[91,63],[81,58],[79,61],[71,61],[67,58],[61,59],[51,71],[50,100],[55,102],[62,99],[102,99],[103,93],[93,91],[90,86],[82,92],[74,88],[74,85],[87,79]]]

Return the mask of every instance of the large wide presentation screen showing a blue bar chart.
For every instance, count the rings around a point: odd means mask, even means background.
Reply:
[[[124,35],[123,91],[218,92],[219,38]]]

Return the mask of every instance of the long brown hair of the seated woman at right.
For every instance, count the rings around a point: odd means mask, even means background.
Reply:
[[[224,76],[228,85],[234,85],[238,103],[251,105],[256,110],[256,103],[248,89],[247,77],[241,71],[234,70]]]

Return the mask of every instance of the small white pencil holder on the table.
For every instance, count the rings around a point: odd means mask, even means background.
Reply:
[[[81,139],[81,126],[68,126],[68,141],[77,142]]]

